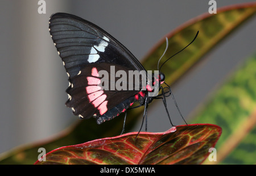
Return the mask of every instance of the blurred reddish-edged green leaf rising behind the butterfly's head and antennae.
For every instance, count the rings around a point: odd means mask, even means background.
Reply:
[[[256,12],[256,3],[228,6],[217,9],[217,14],[200,15],[168,33],[168,50],[161,63],[188,45],[195,37],[196,40],[183,52],[166,62],[161,72],[166,75],[166,82],[171,85],[192,68],[206,53],[213,49],[226,36],[230,35],[243,22]],[[166,39],[163,38],[144,58],[146,70],[157,69],[158,59],[166,48]],[[152,67],[154,66],[154,67]]]

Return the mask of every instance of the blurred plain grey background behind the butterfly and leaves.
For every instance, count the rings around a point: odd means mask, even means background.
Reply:
[[[97,24],[140,60],[168,32],[208,12],[208,2],[46,0],[46,14],[38,14],[36,0],[1,0],[0,153],[47,139],[78,120],[64,105],[68,77],[49,36],[51,14],[68,12]],[[243,2],[254,1],[217,1],[217,7]],[[255,28],[254,18],[172,87],[186,119],[238,64],[255,52]],[[174,123],[183,124],[171,98],[168,108]],[[157,106],[149,106],[148,113],[148,131],[170,128],[161,100]]]

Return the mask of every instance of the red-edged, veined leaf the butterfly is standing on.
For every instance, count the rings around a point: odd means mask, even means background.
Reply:
[[[212,124],[172,127],[166,132],[125,135],[63,146],[35,164],[201,164],[221,135]]]

